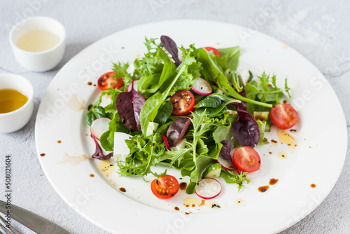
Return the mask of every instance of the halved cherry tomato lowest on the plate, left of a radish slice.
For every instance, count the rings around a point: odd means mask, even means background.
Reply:
[[[165,174],[152,181],[151,189],[157,198],[172,198],[179,191],[179,182],[175,177]]]

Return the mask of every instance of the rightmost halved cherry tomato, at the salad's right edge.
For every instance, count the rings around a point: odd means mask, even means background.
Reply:
[[[292,128],[297,123],[297,111],[290,104],[276,104],[271,109],[271,121],[277,128]]]

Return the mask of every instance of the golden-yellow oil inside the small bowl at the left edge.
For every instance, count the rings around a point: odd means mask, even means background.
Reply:
[[[20,109],[27,101],[28,97],[17,90],[0,90],[0,113],[8,113]]]

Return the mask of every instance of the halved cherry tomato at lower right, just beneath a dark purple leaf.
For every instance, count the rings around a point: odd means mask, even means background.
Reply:
[[[259,169],[261,160],[255,149],[251,146],[244,146],[235,149],[232,163],[241,172],[255,172]]]

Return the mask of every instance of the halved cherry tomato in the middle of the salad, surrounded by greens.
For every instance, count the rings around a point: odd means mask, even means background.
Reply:
[[[186,116],[195,106],[195,96],[188,90],[179,90],[170,98],[173,104],[172,113],[176,116]]]

